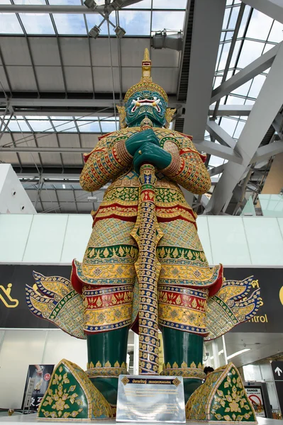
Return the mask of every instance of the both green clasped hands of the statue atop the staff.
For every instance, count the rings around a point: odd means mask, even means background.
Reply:
[[[133,166],[137,173],[143,163],[153,164],[161,170],[172,160],[171,154],[160,147],[158,137],[152,130],[144,130],[129,137],[126,149],[133,157]]]

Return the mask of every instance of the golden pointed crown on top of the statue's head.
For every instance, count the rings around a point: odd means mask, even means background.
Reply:
[[[152,83],[151,60],[148,49],[145,49],[145,55],[143,57],[142,77],[140,82],[138,84],[134,84],[131,89],[128,89],[124,99],[125,102],[128,101],[128,99],[133,96],[133,94],[143,90],[156,91],[158,94],[160,94],[160,96],[162,96],[162,98],[165,99],[166,102],[168,102],[166,91],[163,90],[162,87],[158,86],[158,84]]]

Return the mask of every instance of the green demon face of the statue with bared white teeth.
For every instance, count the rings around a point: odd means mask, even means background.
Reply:
[[[140,125],[140,121],[146,116],[152,120],[153,125],[165,125],[167,102],[155,91],[139,91],[133,94],[125,107],[128,127]]]

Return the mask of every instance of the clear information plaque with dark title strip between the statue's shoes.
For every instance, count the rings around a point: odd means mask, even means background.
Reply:
[[[185,424],[182,376],[120,375],[116,421]]]

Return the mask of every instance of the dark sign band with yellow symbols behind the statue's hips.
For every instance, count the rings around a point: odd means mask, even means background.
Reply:
[[[0,327],[54,328],[38,319],[26,305],[25,285],[33,286],[33,270],[45,276],[70,278],[71,266],[0,265]],[[243,280],[253,276],[253,288],[260,288],[262,306],[257,316],[238,325],[235,332],[282,332],[283,268],[225,268],[227,280]]]

